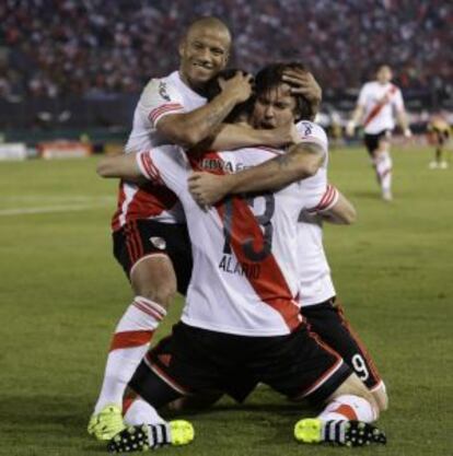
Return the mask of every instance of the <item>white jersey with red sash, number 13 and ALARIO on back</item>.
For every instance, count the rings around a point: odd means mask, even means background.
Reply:
[[[187,190],[193,169],[235,172],[277,153],[254,148],[189,161],[181,148],[161,147],[137,155],[142,174],[167,185],[186,213],[194,255],[182,315],[187,325],[245,336],[281,336],[300,326],[298,219],[301,209],[318,206],[326,187],[309,195],[294,183],[275,194],[232,197],[206,212]]]

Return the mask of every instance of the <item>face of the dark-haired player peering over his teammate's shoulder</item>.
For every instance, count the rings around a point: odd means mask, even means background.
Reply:
[[[252,114],[255,128],[276,128],[295,119],[295,100],[288,84],[280,84],[269,92],[258,94]]]

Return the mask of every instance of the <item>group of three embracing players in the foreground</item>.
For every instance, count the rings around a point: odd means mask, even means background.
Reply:
[[[265,383],[293,400],[326,405],[298,421],[298,441],[384,443],[371,424],[386,408],[382,381],[350,332],[334,336],[346,326],[325,258],[314,258],[309,272],[299,255],[304,224],[317,231],[322,220],[350,223],[355,215],[327,183],[327,139],[311,121],[320,89],[303,67],[275,65],[257,74],[249,104],[242,103],[251,78],[240,72],[219,78],[207,101],[230,39],[219,20],[196,21],[179,46],[179,71],[143,91],[131,153],[100,164],[104,177],[124,179],[114,245],[136,297],[115,331],[89,432],[111,440],[114,452],[185,444],[194,439],[190,423],[167,423],[159,408],[186,396],[243,400]],[[234,124],[224,122],[237,105]],[[211,161],[222,166],[204,167]],[[324,287],[312,296],[313,321],[333,347],[305,315],[301,287],[310,273]],[[176,287],[186,294],[181,321],[147,352]]]

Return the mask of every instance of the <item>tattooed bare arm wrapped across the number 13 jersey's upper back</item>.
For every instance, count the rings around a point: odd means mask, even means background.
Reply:
[[[235,174],[194,173],[188,179],[188,188],[201,206],[214,204],[229,194],[277,190],[316,174],[324,156],[318,144],[302,142],[283,155]]]

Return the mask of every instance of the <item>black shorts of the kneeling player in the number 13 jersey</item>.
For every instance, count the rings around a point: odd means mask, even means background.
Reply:
[[[350,374],[304,325],[288,336],[249,337],[178,323],[144,356],[129,386],[154,406],[163,405],[163,384],[179,395],[220,391],[242,401],[264,383],[291,399],[318,404]]]

